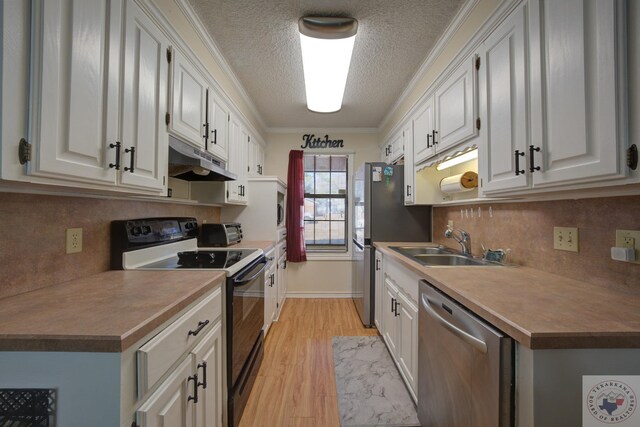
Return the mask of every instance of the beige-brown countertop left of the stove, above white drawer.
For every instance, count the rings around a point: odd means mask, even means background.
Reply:
[[[121,352],[213,289],[220,271],[107,271],[0,299],[0,351]]]

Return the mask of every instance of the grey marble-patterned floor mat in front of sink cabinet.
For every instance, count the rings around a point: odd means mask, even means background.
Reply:
[[[381,337],[333,337],[333,360],[342,427],[420,425]]]

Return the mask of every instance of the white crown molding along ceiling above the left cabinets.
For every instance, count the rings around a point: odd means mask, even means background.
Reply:
[[[189,1],[176,0],[176,4],[178,5],[182,13],[186,16],[189,23],[193,26],[193,28],[196,31],[196,34],[198,35],[202,43],[204,43],[206,48],[209,50],[209,53],[211,53],[213,58],[218,62],[222,71],[227,75],[227,77],[229,77],[229,80],[231,80],[231,83],[235,86],[235,89],[238,91],[238,93],[242,97],[242,100],[249,107],[249,110],[258,121],[258,124],[260,125],[260,127],[262,129],[266,129],[267,125],[264,122],[262,115],[260,114],[255,104],[253,103],[253,100],[245,90],[244,86],[242,85],[242,83],[240,82],[236,74],[233,72],[233,69],[231,68],[231,66],[225,59],[224,55],[218,48],[218,45],[215,43],[215,41],[213,40],[213,38],[205,28],[204,24],[202,23],[202,20],[200,20],[200,17],[196,14],[195,10],[193,10],[193,7],[191,7],[191,5],[189,4]]]

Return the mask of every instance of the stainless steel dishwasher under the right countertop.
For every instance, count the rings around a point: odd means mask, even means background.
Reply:
[[[512,427],[513,340],[420,282],[418,419],[422,427]]]

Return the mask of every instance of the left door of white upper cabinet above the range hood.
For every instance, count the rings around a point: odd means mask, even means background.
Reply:
[[[207,81],[177,49],[173,50],[172,62],[173,91],[169,130],[204,149]]]

